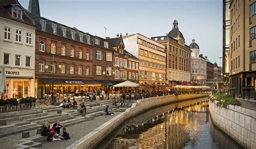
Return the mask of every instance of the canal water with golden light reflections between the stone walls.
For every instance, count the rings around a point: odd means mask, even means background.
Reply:
[[[213,126],[207,101],[147,111],[113,135],[104,148],[241,148]]]

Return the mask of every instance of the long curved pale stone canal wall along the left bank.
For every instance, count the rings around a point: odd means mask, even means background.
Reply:
[[[208,94],[181,94],[178,96],[169,95],[137,100],[137,103],[133,103],[132,106],[129,109],[126,109],[125,112],[120,113],[118,114],[118,116],[110,119],[109,121],[107,121],[107,123],[98,127],[96,130],[87,134],[83,138],[77,140],[68,148],[93,148],[105,137],[107,137],[107,135],[109,135],[113,130],[115,130],[120,124],[122,124],[126,119],[136,116],[141,112],[152,109],[154,107],[171,103],[177,103],[178,107],[178,103],[181,101],[187,101],[191,99],[198,99],[204,97],[208,97]]]

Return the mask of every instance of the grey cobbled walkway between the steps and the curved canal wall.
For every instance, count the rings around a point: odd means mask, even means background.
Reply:
[[[80,138],[86,136],[86,134],[95,130],[97,127],[106,123],[108,120],[117,116],[121,112],[115,112],[113,116],[99,116],[95,117],[93,120],[85,121],[84,123],[72,125],[66,127],[69,132],[70,139],[69,140],[61,140],[61,141],[45,141],[42,143],[43,147],[40,148],[66,148],[70,146],[72,143],[77,141]]]

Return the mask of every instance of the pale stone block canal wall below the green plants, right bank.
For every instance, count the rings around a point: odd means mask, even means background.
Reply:
[[[241,146],[256,148],[256,112],[240,106],[217,106],[217,102],[209,101],[213,124]]]

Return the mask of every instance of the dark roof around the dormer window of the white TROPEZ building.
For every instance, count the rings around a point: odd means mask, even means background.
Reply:
[[[11,6],[19,6],[23,11],[22,19],[12,17],[8,8]],[[27,25],[35,26],[35,21],[27,15],[27,12],[17,0],[2,0],[0,1],[0,17],[11,19],[12,21],[24,23]]]

